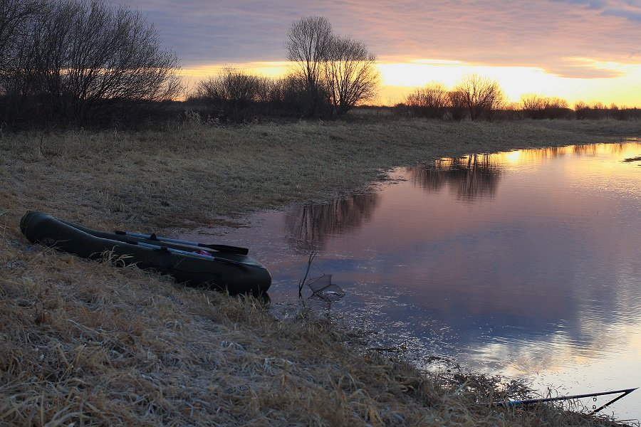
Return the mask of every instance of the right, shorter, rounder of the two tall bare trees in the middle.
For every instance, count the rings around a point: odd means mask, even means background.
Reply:
[[[323,74],[332,109],[343,115],[358,102],[377,94],[376,56],[351,38],[333,37],[325,55]]]

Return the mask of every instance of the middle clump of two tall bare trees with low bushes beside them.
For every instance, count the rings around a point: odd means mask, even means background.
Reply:
[[[338,117],[377,95],[376,56],[365,43],[335,34],[327,19],[292,23],[285,48],[293,65],[283,78],[225,68],[200,82],[188,101],[209,105],[214,120],[239,122],[261,115]]]

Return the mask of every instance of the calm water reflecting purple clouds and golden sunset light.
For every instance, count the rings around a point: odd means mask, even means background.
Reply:
[[[332,274],[346,292],[317,305],[419,364],[447,357],[560,394],[631,388],[641,386],[641,161],[625,160],[639,156],[630,142],[442,159],[395,169],[371,194],[188,237],[249,246],[273,275],[276,307],[296,301],[317,251],[311,276]],[[613,412],[641,418],[641,390]]]

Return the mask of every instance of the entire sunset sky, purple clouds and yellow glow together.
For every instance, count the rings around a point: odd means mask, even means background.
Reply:
[[[192,84],[224,65],[278,75],[293,21],[324,16],[379,60],[378,102],[465,73],[573,103],[641,107],[641,0],[110,0],[142,11]]]

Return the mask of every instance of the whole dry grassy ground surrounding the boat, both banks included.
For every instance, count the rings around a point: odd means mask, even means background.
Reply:
[[[0,137],[0,424],[607,426],[522,390],[421,374],[348,346],[306,312],[31,247],[28,209],[92,228],[242,223],[326,199],[390,167],[468,152],[619,141],[641,122],[354,120]]]

